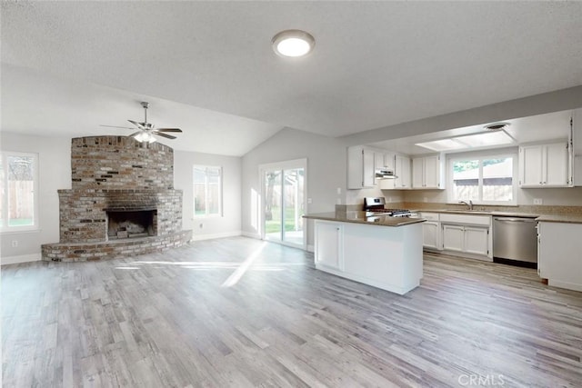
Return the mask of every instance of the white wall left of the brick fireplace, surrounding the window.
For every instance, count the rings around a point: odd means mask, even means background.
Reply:
[[[71,139],[2,133],[0,145],[3,151],[38,154],[39,170],[39,230],[2,234],[2,263],[40,259],[40,245],[59,240],[57,190],[71,188]],[[13,241],[18,244],[15,248]]]

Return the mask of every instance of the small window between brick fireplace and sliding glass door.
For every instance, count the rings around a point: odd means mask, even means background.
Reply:
[[[222,215],[222,167],[194,166],[194,216]]]

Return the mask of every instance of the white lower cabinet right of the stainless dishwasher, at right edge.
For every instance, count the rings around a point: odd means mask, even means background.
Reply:
[[[582,291],[582,224],[537,224],[537,270],[547,284]]]

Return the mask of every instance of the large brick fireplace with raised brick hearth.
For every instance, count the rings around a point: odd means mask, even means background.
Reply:
[[[146,254],[185,244],[174,150],[128,136],[71,141],[72,188],[59,190],[60,241],[43,260],[86,261]]]

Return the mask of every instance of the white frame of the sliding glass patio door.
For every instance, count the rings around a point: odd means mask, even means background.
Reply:
[[[306,213],[307,209],[307,159],[295,159],[295,160],[288,160],[283,162],[276,162],[276,163],[269,163],[269,164],[259,164],[258,166],[258,174],[259,174],[259,182],[261,187],[261,201],[259,205],[259,219],[260,219],[260,236],[261,240],[266,240],[266,231],[265,231],[265,207],[266,207],[266,180],[265,180],[265,173],[267,171],[274,171],[274,170],[281,170],[285,172],[287,170],[296,170],[296,169],[303,169],[303,211],[304,214]],[[284,178],[284,174],[281,176]],[[282,212],[284,211],[284,206],[281,206]],[[285,218],[281,217],[283,225],[285,225]],[[307,231],[306,225],[307,223],[304,221],[303,223],[303,244],[294,244],[289,243],[283,240],[283,233],[281,234],[280,240],[267,240],[277,244],[283,244],[288,246],[293,246],[296,248],[301,248],[306,250],[307,247]],[[284,227],[282,226],[282,229]]]

